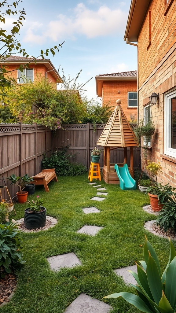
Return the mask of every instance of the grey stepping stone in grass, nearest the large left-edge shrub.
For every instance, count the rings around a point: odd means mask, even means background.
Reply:
[[[73,267],[75,265],[81,265],[80,260],[75,253],[66,253],[50,256],[47,258],[50,268],[54,271],[59,270],[61,267]]]

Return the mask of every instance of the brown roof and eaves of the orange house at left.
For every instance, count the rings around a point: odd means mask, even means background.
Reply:
[[[60,77],[58,71],[55,69],[54,65],[49,59],[42,59],[42,58],[25,58],[17,55],[11,55],[5,61],[3,61],[3,64],[26,64],[30,62],[30,64],[44,64],[47,68],[47,71],[51,71],[51,74],[55,77],[55,79],[58,81],[58,83],[63,83],[62,78]]]

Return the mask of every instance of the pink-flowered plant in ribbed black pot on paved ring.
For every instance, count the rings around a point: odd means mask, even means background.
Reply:
[[[44,199],[28,201],[29,207],[24,210],[24,227],[36,229],[44,227],[46,224],[46,208],[43,207]]]

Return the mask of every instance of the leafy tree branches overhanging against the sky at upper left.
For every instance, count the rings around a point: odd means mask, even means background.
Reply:
[[[7,30],[0,28],[0,40],[1,40],[1,48],[0,48],[0,62],[1,62],[1,70],[0,70],[0,90],[1,95],[4,94],[4,88],[10,87],[12,83],[14,83],[14,80],[12,79],[11,72],[6,68],[5,65],[3,65],[3,61],[6,60],[9,56],[15,54],[16,52],[23,54],[23,57],[28,58],[29,54],[25,51],[24,48],[21,47],[21,44],[19,40],[16,39],[16,36],[19,35],[19,31],[21,26],[23,26],[23,22],[25,21],[25,10],[19,10],[17,11],[16,8],[22,0],[17,0],[13,3],[9,3],[10,1],[2,1],[0,3],[0,22],[1,25],[3,23],[6,23],[5,16],[14,16],[16,15],[18,18],[15,22],[12,24],[11,31],[7,34]],[[42,57],[44,59],[44,55],[48,56],[48,53],[51,52],[53,55],[55,54],[55,51],[59,51],[59,47],[62,47],[62,44],[59,44],[58,46],[54,46],[53,48],[46,49],[44,52],[41,50],[41,54],[39,57]],[[34,57],[33,57],[34,58]],[[35,58],[34,58],[35,59]],[[30,63],[30,62],[28,62]],[[28,66],[28,63],[26,66]],[[23,69],[22,67],[19,67],[20,69]]]

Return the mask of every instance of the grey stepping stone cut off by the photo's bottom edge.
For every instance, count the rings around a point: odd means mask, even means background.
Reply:
[[[110,309],[109,304],[82,293],[66,308],[64,313],[109,313]]]

